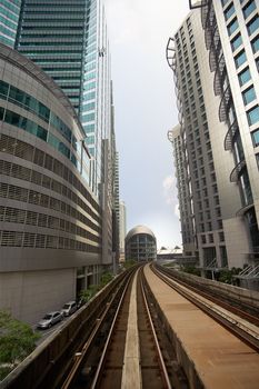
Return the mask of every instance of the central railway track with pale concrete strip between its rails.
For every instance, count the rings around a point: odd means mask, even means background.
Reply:
[[[162,339],[158,322],[153,325],[157,312],[152,307],[140,269],[121,293],[112,320],[107,321],[103,312],[94,333],[77,352],[60,388],[170,389],[172,381],[179,383],[173,388],[188,388],[183,372],[172,369],[171,357],[166,347],[161,347],[167,340]],[[109,328],[103,336],[106,341],[97,345],[100,331],[104,331],[103,326]]]

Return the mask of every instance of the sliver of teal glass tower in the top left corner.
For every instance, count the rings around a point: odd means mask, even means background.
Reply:
[[[1,0],[0,2],[0,42],[14,47],[22,0]]]

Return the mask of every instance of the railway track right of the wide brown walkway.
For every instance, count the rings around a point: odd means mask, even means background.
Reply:
[[[209,292],[201,291],[199,288],[179,281],[170,272],[161,272],[155,266],[151,269],[178,293],[187,298],[259,352],[259,319],[256,315],[250,315]]]

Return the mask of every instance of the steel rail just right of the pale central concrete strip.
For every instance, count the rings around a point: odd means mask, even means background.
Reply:
[[[172,388],[171,387],[171,382],[170,382],[170,379],[168,377],[167,367],[166,367],[166,363],[165,363],[165,360],[163,360],[163,356],[162,356],[162,352],[161,352],[161,349],[160,349],[160,346],[159,346],[159,342],[158,342],[158,337],[157,337],[157,333],[156,333],[156,329],[155,329],[155,326],[153,326],[153,322],[152,322],[152,317],[151,317],[149,305],[148,305],[147,293],[146,293],[146,290],[145,290],[145,287],[143,287],[143,281],[142,281],[143,273],[141,276],[142,276],[141,277],[141,292],[142,292],[142,298],[143,298],[143,301],[145,301],[146,312],[147,312],[148,318],[149,318],[149,325],[150,325],[150,328],[151,328],[153,342],[155,342],[157,355],[158,355],[158,363],[160,366],[160,371],[162,373],[161,378],[162,378],[162,381],[165,383],[165,388],[171,389]]]

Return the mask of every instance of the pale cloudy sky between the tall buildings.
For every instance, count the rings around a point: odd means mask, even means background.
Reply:
[[[178,123],[169,37],[189,12],[188,0],[104,0],[119,152],[120,199],[127,231],[150,228],[158,248],[181,245],[172,147]]]

